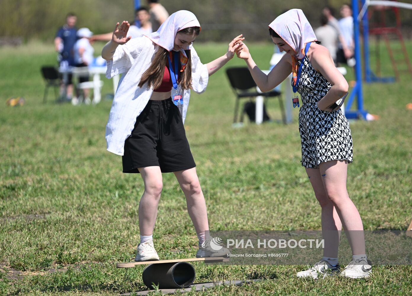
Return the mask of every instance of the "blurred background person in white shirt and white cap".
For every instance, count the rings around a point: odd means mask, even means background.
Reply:
[[[74,51],[74,59],[75,59],[75,67],[87,67],[93,62],[93,53],[94,49],[90,44],[90,37],[93,33],[89,30],[89,28],[80,28],[77,30],[77,37],[80,38],[76,41],[73,51]],[[80,76],[79,82],[87,82],[89,81],[88,76]],[[84,92],[84,103],[90,104],[90,89],[83,89]],[[78,97],[73,97],[72,104],[77,105],[81,102],[80,95]]]

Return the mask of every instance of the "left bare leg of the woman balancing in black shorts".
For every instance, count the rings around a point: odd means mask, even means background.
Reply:
[[[162,172],[158,166],[147,166],[138,170],[145,184],[145,191],[139,202],[140,235],[152,235],[163,187]]]

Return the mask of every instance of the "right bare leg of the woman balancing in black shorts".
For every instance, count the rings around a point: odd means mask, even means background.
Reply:
[[[200,188],[199,178],[196,174],[196,168],[174,172],[176,179],[185,193],[187,212],[192,219],[194,229],[197,233],[209,230],[207,219],[206,202]]]

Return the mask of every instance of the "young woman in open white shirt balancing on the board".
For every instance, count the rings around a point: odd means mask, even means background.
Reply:
[[[205,244],[206,203],[183,122],[190,89],[205,91],[208,77],[233,58],[241,35],[227,52],[202,64],[192,46],[201,30],[192,12],[175,12],[150,35],[130,40],[129,23],[117,23],[102,50],[106,76],[122,73],[106,126],[107,149],[122,155],[123,172],[140,173],[145,190],[139,203],[140,244],[136,261],[159,260],[152,233],[162,192],[162,172],[173,172],[186,197],[199,238],[196,257],[222,256]]]

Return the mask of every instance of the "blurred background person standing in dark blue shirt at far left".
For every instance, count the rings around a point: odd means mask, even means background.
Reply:
[[[59,28],[56,37],[54,38],[54,47],[58,52],[57,59],[62,69],[75,65],[73,47],[77,41],[77,29],[75,28],[76,21],[77,16],[73,12],[68,13],[66,16],[66,23]],[[66,99],[71,101],[73,95],[71,74],[68,75],[66,95]]]

